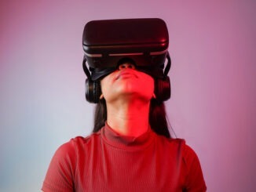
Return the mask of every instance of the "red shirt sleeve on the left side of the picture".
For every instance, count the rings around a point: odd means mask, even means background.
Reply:
[[[49,164],[42,191],[75,191],[75,144],[68,142],[60,146]]]

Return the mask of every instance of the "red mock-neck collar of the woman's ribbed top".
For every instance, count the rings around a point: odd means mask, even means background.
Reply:
[[[152,129],[148,129],[141,136],[123,136],[118,132],[115,132],[107,123],[101,129],[101,136],[104,141],[112,147],[124,149],[124,150],[141,150],[144,147],[148,147],[155,139],[155,133]]]

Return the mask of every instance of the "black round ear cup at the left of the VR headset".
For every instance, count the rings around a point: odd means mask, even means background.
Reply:
[[[90,103],[99,103],[101,96],[101,83],[86,79],[86,100]]]

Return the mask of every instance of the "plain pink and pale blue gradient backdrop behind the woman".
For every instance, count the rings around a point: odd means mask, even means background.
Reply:
[[[38,191],[60,144],[87,136],[82,30],[160,17],[170,33],[168,118],[199,156],[208,191],[253,191],[256,2],[0,2],[0,191]]]

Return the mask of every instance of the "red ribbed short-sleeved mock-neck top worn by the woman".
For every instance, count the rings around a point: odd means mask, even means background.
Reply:
[[[49,165],[43,191],[206,191],[199,160],[183,139],[151,129],[137,138],[108,125],[62,145]]]

